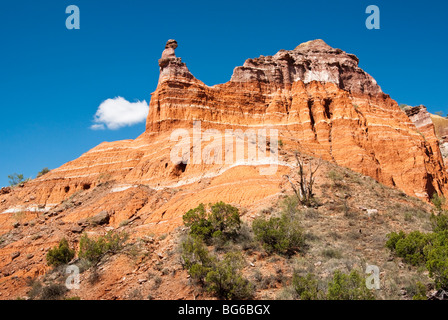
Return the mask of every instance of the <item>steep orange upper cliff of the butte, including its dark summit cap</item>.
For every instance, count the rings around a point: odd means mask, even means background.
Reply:
[[[174,71],[172,72],[175,73]],[[202,127],[276,128],[287,145],[427,199],[446,192],[438,145],[358,67],[358,59],[322,40],[249,59],[213,87],[161,76],[147,133]]]

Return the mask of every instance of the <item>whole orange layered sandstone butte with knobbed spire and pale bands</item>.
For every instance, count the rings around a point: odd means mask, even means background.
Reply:
[[[284,149],[322,157],[410,196],[448,195],[447,170],[426,109],[417,108],[408,117],[358,67],[355,55],[322,40],[309,41],[248,59],[229,82],[207,86],[175,56],[176,47],[176,41],[168,41],[159,60],[145,132],[135,140],[101,143],[21,187],[3,188],[0,234],[12,229],[11,217],[18,212],[39,216],[80,191],[99,187],[103,191],[93,204],[74,204],[62,220],[74,223],[106,210],[111,226],[142,215],[147,217],[143,226],[167,232],[201,202],[250,208],[287,185],[283,175],[292,162],[282,157],[273,175],[260,175],[258,169],[267,164],[250,159],[173,163],[170,152],[177,141],[171,141],[171,133],[183,128],[192,136],[193,120],[201,121],[202,131],[277,129]]]

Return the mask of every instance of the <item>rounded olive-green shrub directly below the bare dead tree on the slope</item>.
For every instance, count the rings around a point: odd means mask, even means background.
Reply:
[[[257,218],[252,229],[268,253],[292,254],[304,246],[304,233],[297,216],[282,214],[269,220]]]

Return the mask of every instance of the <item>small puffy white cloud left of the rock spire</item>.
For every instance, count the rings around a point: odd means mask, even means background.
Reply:
[[[129,102],[122,97],[103,101],[94,116],[92,130],[116,130],[145,121],[149,106],[145,100]]]

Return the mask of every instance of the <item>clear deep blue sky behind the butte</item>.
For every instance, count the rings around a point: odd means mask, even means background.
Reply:
[[[365,13],[377,5],[381,29]],[[68,5],[80,29],[68,30]],[[324,39],[354,53],[399,103],[448,112],[446,1],[2,0],[0,5],[0,186],[34,178],[102,141],[133,139],[144,122],[92,130],[114,97],[149,102],[166,40],[208,85],[230,79],[247,58]]]

